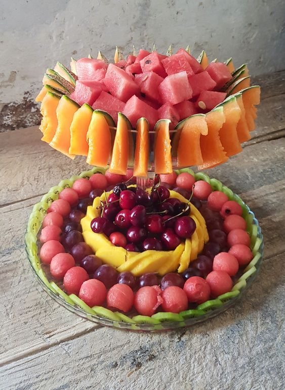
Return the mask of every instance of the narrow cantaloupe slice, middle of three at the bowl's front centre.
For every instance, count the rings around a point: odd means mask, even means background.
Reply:
[[[134,161],[134,176],[147,176],[149,154],[149,124],[145,118],[137,122],[137,138]]]

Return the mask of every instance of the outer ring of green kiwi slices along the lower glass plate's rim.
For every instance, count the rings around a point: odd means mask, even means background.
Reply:
[[[104,173],[105,170],[94,167],[92,170],[82,172],[78,176],[72,176],[70,179],[62,180],[57,186],[52,187],[39,203],[34,205],[29,217],[25,234],[25,248],[29,264],[36,280],[57,303],[69,311],[97,324],[132,331],[165,331],[188,327],[215,317],[233,306],[245,294],[245,291],[251,286],[260,270],[263,257],[263,237],[258,220],[250,208],[230,188],[224,186],[219,180],[210,178],[205,173],[194,173],[189,168],[177,170],[177,173],[189,172],[194,175],[196,180],[209,182],[213,190],[223,191],[227,194],[229,200],[236,201],[242,207],[242,216],[247,222],[247,231],[251,237],[251,250],[254,257],[245,269],[239,271],[234,279],[232,290],[214,300],[209,300],[199,305],[195,309],[174,314],[171,316],[171,320],[163,312],[156,313],[152,317],[135,316],[133,319],[131,316],[128,317],[118,312],[113,313],[103,307],[90,308],[78,297],[65,294],[62,289],[62,284],[56,284],[52,280],[48,267],[40,263],[38,257],[38,232],[47,213],[47,209],[54,200],[58,199],[59,192],[65,187],[71,187],[73,182],[79,177],[89,178],[95,172]]]

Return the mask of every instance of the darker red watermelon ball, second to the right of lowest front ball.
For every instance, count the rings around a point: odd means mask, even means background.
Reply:
[[[184,287],[188,301],[191,303],[201,304],[210,298],[210,286],[205,279],[199,276],[191,276],[186,280]]]

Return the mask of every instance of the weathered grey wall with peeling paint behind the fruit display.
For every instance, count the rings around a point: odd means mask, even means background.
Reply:
[[[46,68],[99,48],[112,58],[115,45],[127,55],[133,44],[189,44],[194,56],[205,48],[210,59],[247,62],[253,75],[282,70],[284,19],[284,0],[0,0],[1,128],[36,123]]]

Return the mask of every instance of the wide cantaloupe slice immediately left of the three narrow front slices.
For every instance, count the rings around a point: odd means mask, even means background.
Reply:
[[[87,164],[105,167],[111,154],[111,133],[105,116],[94,111],[87,132],[88,156]]]

